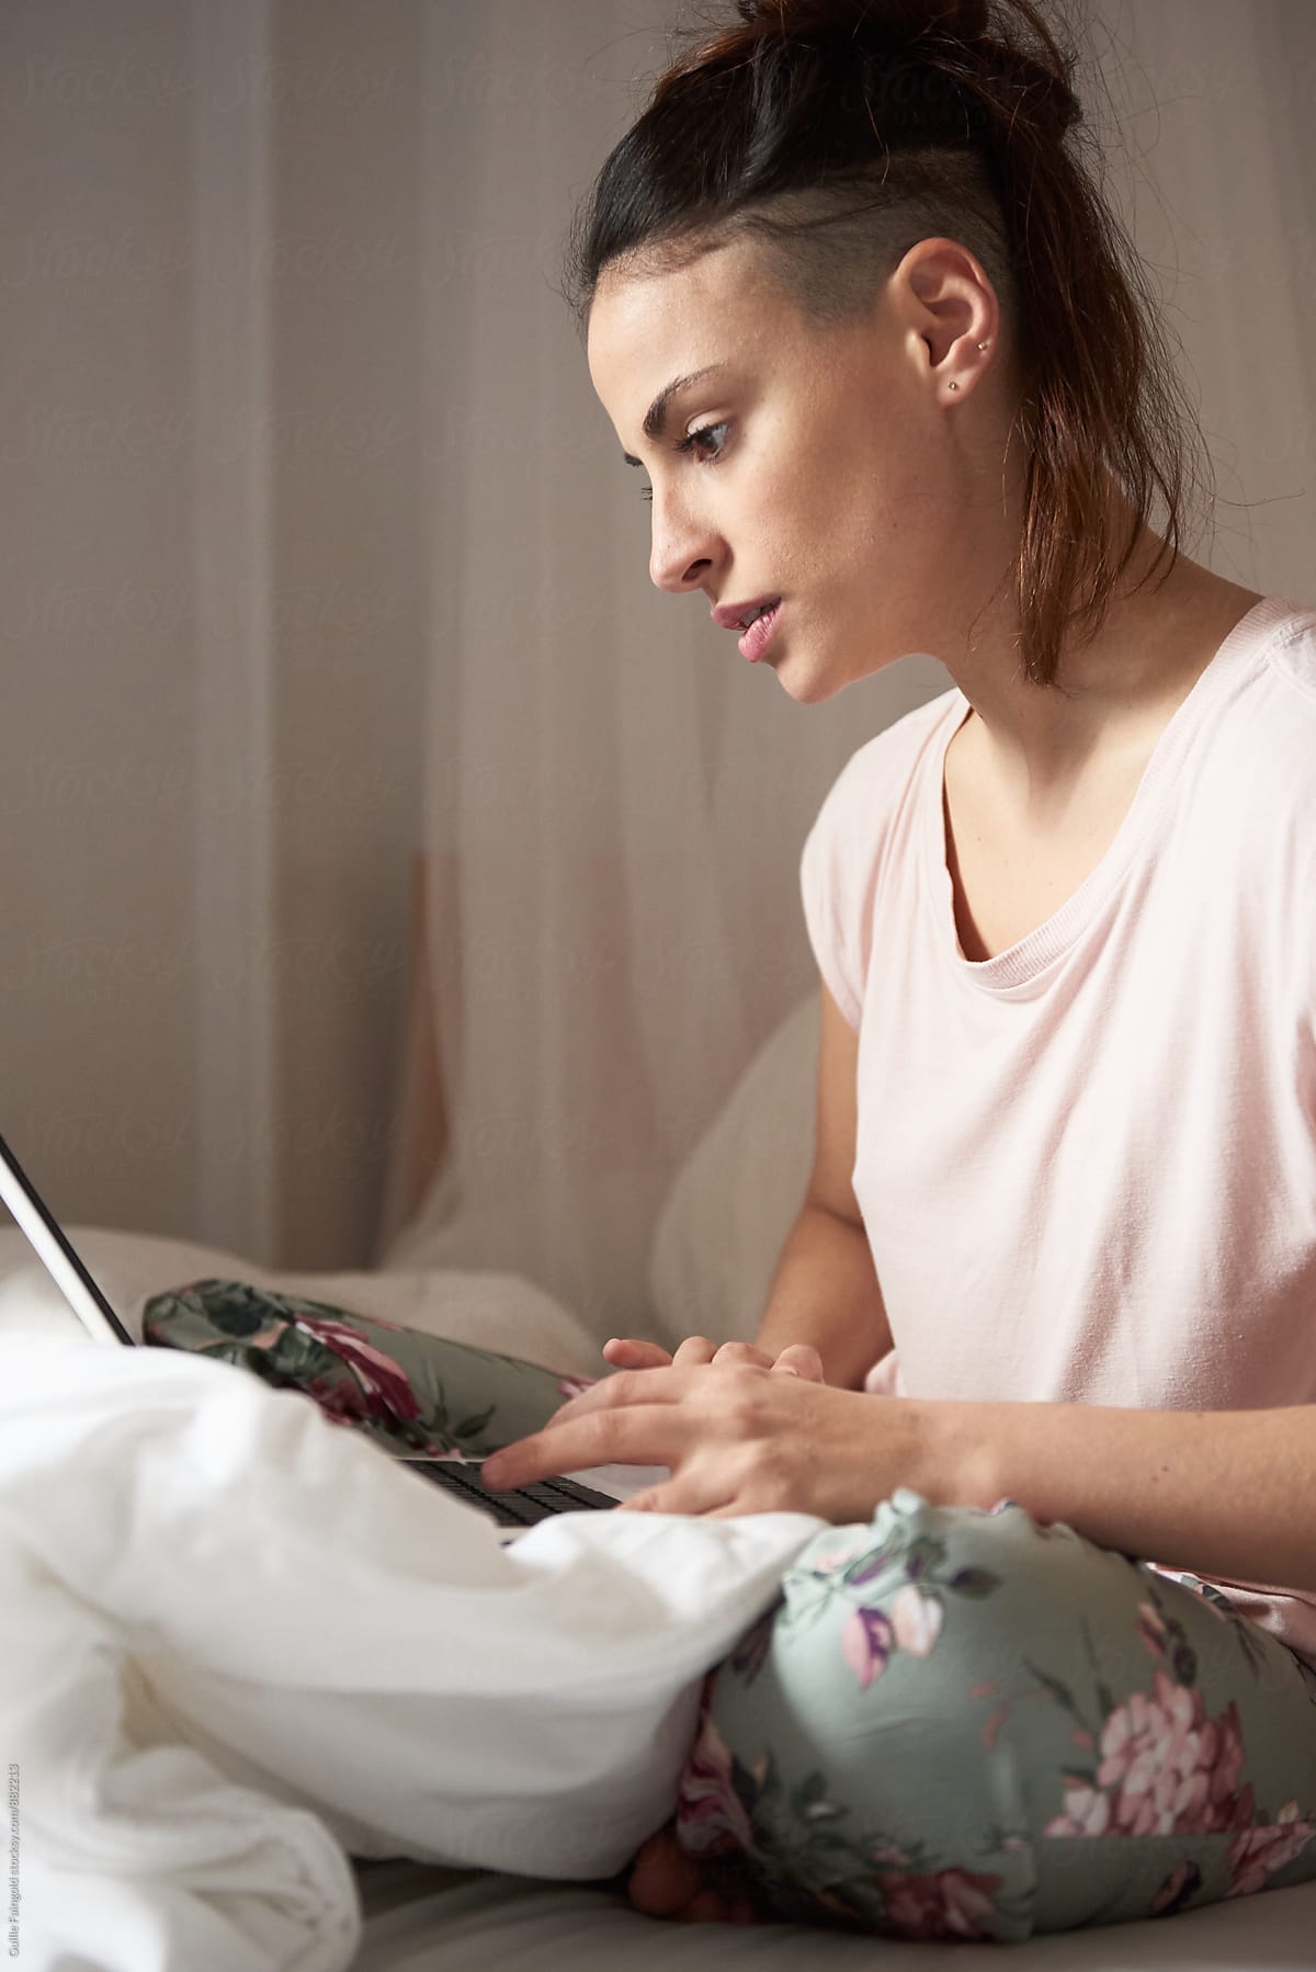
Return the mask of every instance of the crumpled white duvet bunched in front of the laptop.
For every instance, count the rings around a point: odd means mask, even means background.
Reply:
[[[345,1850],[621,1867],[671,1812],[700,1674],[821,1522],[572,1514],[501,1548],[306,1398],[51,1333],[24,1280],[0,1280],[20,1966],[345,1968]]]

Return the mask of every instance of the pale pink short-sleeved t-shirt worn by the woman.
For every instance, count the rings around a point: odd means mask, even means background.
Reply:
[[[862,745],[801,858],[858,1029],[852,1183],[898,1359],[870,1386],[1316,1404],[1316,609],[1243,617],[1101,864],[983,962],[941,807],[967,714],[945,692]],[[1316,1595],[1219,1585],[1316,1662]]]

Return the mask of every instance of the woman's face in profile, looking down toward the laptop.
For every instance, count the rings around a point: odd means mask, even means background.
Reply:
[[[947,398],[971,310],[937,300],[933,250],[902,270],[860,319],[819,327],[738,239],[671,272],[606,270],[590,314],[594,388],[653,489],[653,582],[724,609],[779,598],[762,663],[805,702],[908,651],[949,657],[1000,578],[981,525],[1000,452],[983,487],[969,390]]]

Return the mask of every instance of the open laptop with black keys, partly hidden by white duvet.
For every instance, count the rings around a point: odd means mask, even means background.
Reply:
[[[36,1185],[0,1136],[0,1199],[8,1205],[22,1232],[83,1323],[93,1341],[110,1349],[140,1347],[118,1313],[95,1284],[59,1221],[43,1205]],[[511,1493],[491,1493],[479,1477],[479,1459],[434,1459],[414,1453],[393,1453],[401,1465],[462,1499],[470,1507],[491,1513],[503,1544],[529,1532],[554,1513],[582,1513],[616,1507],[631,1493],[667,1477],[665,1467],[600,1465],[580,1475],[541,1479]],[[594,1483],[586,1483],[594,1481]]]

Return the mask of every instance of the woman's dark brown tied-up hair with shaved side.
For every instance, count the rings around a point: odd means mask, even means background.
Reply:
[[[736,233],[817,321],[860,312],[910,246],[977,254],[1012,331],[1024,442],[1020,669],[1056,684],[1144,523],[1180,550],[1209,475],[1142,262],[1085,164],[1077,57],[1044,0],[738,0],[606,160],[568,246],[588,321],[612,262],[681,264]],[[1133,509],[1119,538],[1111,479]]]

